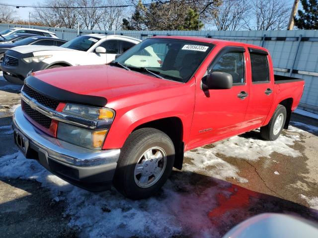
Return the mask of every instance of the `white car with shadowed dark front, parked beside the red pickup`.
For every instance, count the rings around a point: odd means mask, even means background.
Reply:
[[[19,46],[4,54],[0,67],[7,81],[23,84],[29,72],[63,66],[105,64],[139,42],[141,40],[127,36],[89,34],[61,47]]]

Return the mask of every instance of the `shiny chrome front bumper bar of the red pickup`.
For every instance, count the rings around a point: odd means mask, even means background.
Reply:
[[[13,115],[13,127],[22,133],[29,143],[46,151],[48,157],[77,167],[91,167],[117,163],[120,149],[90,150],[53,138],[38,130],[28,121],[18,107]]]

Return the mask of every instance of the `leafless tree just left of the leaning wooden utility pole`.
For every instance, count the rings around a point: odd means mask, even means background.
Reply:
[[[251,20],[244,23],[248,30],[267,31],[285,29],[290,7],[284,0],[254,0],[251,4]]]

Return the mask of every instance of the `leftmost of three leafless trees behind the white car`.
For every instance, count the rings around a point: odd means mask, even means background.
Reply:
[[[75,8],[77,0],[46,0],[40,5],[50,8],[34,8],[32,20],[49,27],[75,28],[78,23],[79,13]]]

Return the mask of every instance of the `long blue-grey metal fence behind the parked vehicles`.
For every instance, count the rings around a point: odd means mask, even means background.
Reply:
[[[0,31],[25,25],[0,24]],[[97,31],[66,28],[31,28],[54,32],[57,37],[72,40],[79,35],[103,33],[131,36],[141,40],[159,35],[201,36],[245,42],[267,48],[275,73],[305,79],[305,91],[300,108],[318,114],[318,31]]]

